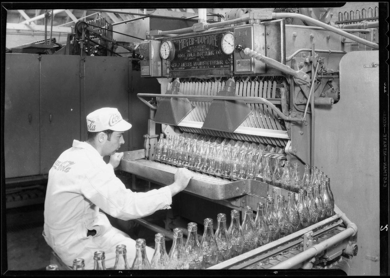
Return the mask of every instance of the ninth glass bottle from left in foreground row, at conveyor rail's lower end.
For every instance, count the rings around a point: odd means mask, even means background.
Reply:
[[[208,268],[218,263],[218,247],[214,236],[213,220],[206,218],[203,224],[203,238],[200,247],[203,253],[203,266]]]

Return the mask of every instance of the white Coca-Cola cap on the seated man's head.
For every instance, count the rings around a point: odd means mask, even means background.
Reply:
[[[126,122],[117,108],[104,107],[87,115],[87,129],[90,132],[99,132],[107,129],[126,131],[131,124]]]

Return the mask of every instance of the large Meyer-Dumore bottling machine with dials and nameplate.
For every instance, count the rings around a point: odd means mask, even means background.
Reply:
[[[354,262],[367,260],[373,250],[367,244],[378,246],[378,237],[368,236],[370,228],[353,223],[356,219],[362,224],[356,209],[358,202],[367,204],[367,199],[351,190],[364,187],[367,177],[359,174],[361,158],[354,154],[361,151],[361,142],[349,144],[352,138],[360,141],[360,136],[371,142],[375,135],[361,135],[360,129],[346,122],[353,114],[353,120],[362,120],[360,125],[369,130],[367,120],[355,111],[363,105],[373,117],[376,114],[378,21],[364,20],[363,11],[356,11],[356,18],[351,13],[349,21],[343,21],[340,13],[335,26],[328,24],[330,11],[233,9],[225,21],[200,19],[188,28],[151,30],[140,43],[140,74],[158,78],[161,95],[137,94],[150,108],[145,148],[126,152],[121,170],[157,184],[174,181],[182,165],[156,159],[155,125],[159,123],[166,136],[202,139],[218,147],[229,143],[262,149],[271,161],[298,163],[301,173],[305,164],[318,166],[332,182],[333,216],[209,269],[342,268],[353,273],[359,268]],[[378,7],[371,8],[372,17],[374,12]],[[286,24],[286,19],[305,25]],[[350,24],[353,19],[358,23]],[[364,97],[367,91],[370,100]],[[368,144],[367,150],[373,147]],[[368,167],[365,171],[377,171]],[[271,182],[193,171],[193,179],[178,198],[176,216],[198,223],[223,208],[243,211],[249,205],[255,211],[267,195],[284,195],[287,200],[288,191]],[[172,219],[175,215],[166,228]],[[364,255],[354,259],[359,254],[358,228],[359,236],[365,234],[364,241],[370,239],[360,245]],[[258,264],[297,243],[299,250],[276,256],[265,266]]]

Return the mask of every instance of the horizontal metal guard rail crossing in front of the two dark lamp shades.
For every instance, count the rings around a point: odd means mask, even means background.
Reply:
[[[211,102],[213,100],[230,100],[230,101],[238,101],[242,100],[246,103],[262,103],[269,106],[269,108],[272,109],[273,112],[277,113],[279,117],[281,117],[283,120],[288,121],[294,121],[294,122],[303,122],[303,118],[299,117],[291,117],[284,115],[274,104],[271,103],[270,100],[278,100],[278,99],[265,99],[263,97],[240,97],[240,96],[234,96],[234,97],[227,97],[227,96],[199,96],[199,95],[172,95],[172,94],[137,94],[137,97],[145,103],[147,106],[149,106],[151,109],[157,109],[156,106],[153,106],[149,102],[147,102],[144,97],[162,97],[162,98],[168,98],[168,97],[177,97],[177,98],[186,98],[192,101],[206,101]]]

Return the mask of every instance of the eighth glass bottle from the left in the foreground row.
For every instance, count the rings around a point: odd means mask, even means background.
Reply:
[[[188,269],[203,269],[203,253],[198,240],[198,224],[188,223],[188,237],[184,250],[187,254]]]

